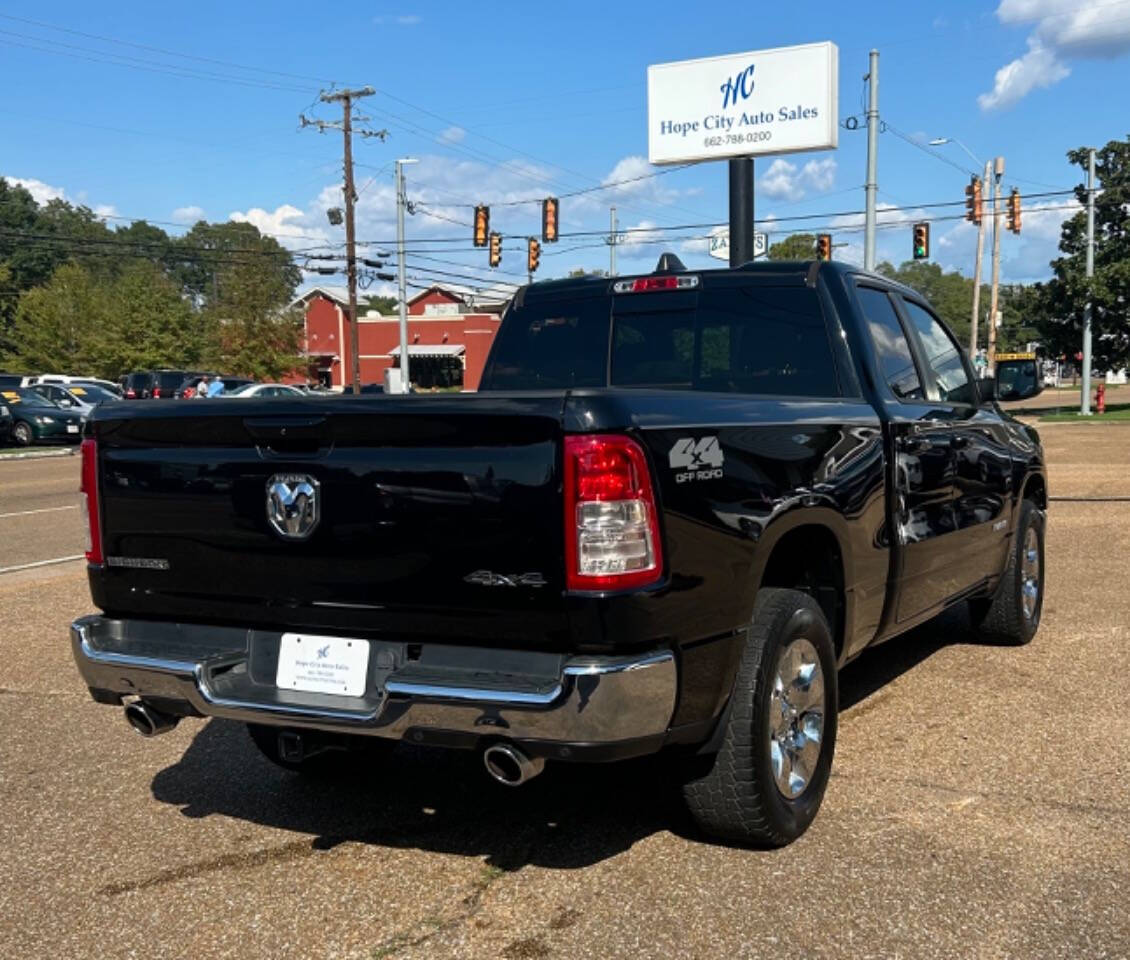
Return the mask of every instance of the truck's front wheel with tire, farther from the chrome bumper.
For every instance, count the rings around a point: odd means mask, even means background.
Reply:
[[[986,640],[1022,646],[1040,629],[1044,605],[1044,512],[1020,500],[1016,535],[996,596],[970,601],[970,620]]]

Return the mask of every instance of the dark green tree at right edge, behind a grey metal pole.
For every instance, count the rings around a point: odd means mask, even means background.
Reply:
[[[1076,166],[1087,163],[1087,149],[1068,151]],[[1111,140],[1096,151],[1095,276],[1086,276],[1087,215],[1080,211],[1060,232],[1062,256],[1051,263],[1052,279],[1035,285],[1025,300],[1033,325],[1049,356],[1069,358],[1081,349],[1084,308],[1092,309],[1095,368],[1130,365],[1130,137]],[[1076,198],[1087,202],[1084,184]]]

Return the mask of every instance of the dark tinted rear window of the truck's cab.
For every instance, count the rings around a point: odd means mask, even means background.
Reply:
[[[842,395],[818,293],[753,277],[512,308],[480,389],[585,386]]]

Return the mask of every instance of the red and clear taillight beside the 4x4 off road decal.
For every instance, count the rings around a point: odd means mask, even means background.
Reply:
[[[663,574],[659,510],[631,437],[565,437],[565,586],[623,590]]]

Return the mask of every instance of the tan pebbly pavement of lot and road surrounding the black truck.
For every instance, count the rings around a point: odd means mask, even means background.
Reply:
[[[1130,427],[1041,433],[1053,496],[1130,499]],[[654,762],[311,782],[233,724],[138,738],[70,658],[77,486],[0,462],[2,957],[1130,955],[1128,500],[1051,505],[1031,646],[954,612],[849,666],[824,808],[766,853]]]

